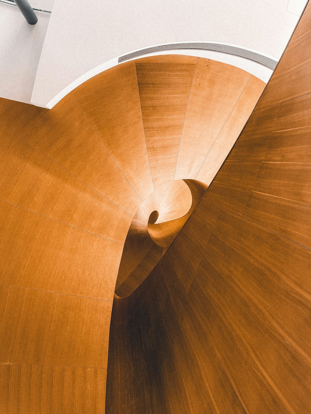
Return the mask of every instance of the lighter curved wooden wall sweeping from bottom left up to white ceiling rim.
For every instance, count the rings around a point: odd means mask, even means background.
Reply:
[[[124,241],[148,195],[177,178],[191,108],[195,117],[192,93],[204,95],[207,85],[199,81],[209,73],[200,72],[204,62],[131,61],[90,79],[50,111],[0,99],[1,414],[104,412]],[[237,71],[206,64],[213,73]],[[211,170],[228,154],[264,87],[240,74],[239,82],[228,76],[224,83],[219,75],[221,83],[209,84],[215,102],[226,107],[219,135],[211,125],[209,145],[219,142],[223,157],[208,161]],[[233,98],[221,101],[227,89]],[[226,129],[235,110],[241,112],[236,129]],[[196,116],[207,124],[205,111]],[[208,159],[205,143],[204,151],[200,162]]]

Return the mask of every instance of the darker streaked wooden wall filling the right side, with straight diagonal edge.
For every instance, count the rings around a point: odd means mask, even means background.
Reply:
[[[194,213],[114,298],[107,413],[311,412],[310,23],[309,4]]]

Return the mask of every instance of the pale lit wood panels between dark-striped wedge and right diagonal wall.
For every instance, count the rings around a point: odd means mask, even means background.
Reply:
[[[264,86],[264,82],[237,67],[198,59],[175,179],[211,182],[222,164],[212,163],[211,148],[222,144],[221,152],[228,154],[257,102],[255,96],[260,95]]]

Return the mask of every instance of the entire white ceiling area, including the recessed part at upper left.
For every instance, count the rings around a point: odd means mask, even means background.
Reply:
[[[53,0],[31,0],[31,3],[46,10],[53,6],[46,35],[47,17],[41,16],[41,12],[38,24],[33,26],[37,29],[29,29],[17,16],[16,7],[0,3],[0,77],[5,79],[1,82],[0,96],[27,101],[25,96],[34,85],[31,102],[46,106],[51,101],[56,103],[70,85],[77,86],[92,76],[95,68],[104,70],[116,64],[120,55],[158,44],[224,42],[278,60],[306,1],[55,0],[53,5]],[[9,8],[15,9],[14,19]],[[19,39],[23,39],[22,45]],[[23,66],[27,73],[21,75]],[[10,77],[16,81],[14,94],[10,94],[12,81],[6,80]],[[28,85],[27,94],[24,82]]]

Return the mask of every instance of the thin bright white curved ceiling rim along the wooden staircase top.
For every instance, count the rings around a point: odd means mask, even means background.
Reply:
[[[209,43],[209,42],[195,41],[195,42],[176,42],[176,43]],[[233,45],[231,43],[215,42],[215,41],[213,43],[218,43],[218,44],[228,45],[228,46],[235,46],[235,47],[241,48],[241,46]],[[172,44],[172,43],[169,43],[169,44]],[[155,46],[162,46],[162,45],[153,45],[153,46],[150,46],[150,47],[155,47]],[[133,52],[141,51],[141,50],[144,50],[144,49],[136,49],[135,51],[131,51],[129,53],[133,53]],[[249,48],[247,48],[245,50],[255,52],[255,53],[259,53],[258,51],[254,51],[253,49],[249,49]],[[198,57],[201,57],[201,58],[209,58],[209,59],[217,60],[219,62],[228,63],[229,65],[239,67],[240,69],[243,69],[246,72],[249,72],[250,74],[258,77],[259,79],[263,80],[266,83],[270,79],[270,77],[272,75],[272,72],[273,72],[273,70],[269,69],[268,67],[260,65],[259,63],[253,62],[252,60],[249,60],[249,59],[241,58],[241,57],[235,56],[235,55],[229,55],[227,53],[206,51],[206,50],[191,50],[191,49],[176,49],[176,50],[174,50],[174,49],[171,49],[171,50],[168,50],[168,51],[147,53],[145,55],[137,56],[137,57],[129,59],[129,60],[145,58],[147,56],[171,55],[171,54],[198,56]],[[263,56],[266,56],[268,58],[271,58],[273,60],[277,60],[273,56],[270,56],[270,55],[267,55],[267,54],[264,54],[264,53],[260,53],[260,54],[263,55]],[[89,72],[87,72],[87,73],[83,74],[82,76],[78,77],[78,79],[75,79],[75,81],[71,82],[71,84],[69,84],[66,88],[64,88],[61,92],[59,92],[56,96],[54,96],[54,98],[51,99],[51,101],[46,104],[46,108],[49,108],[49,109],[53,108],[53,106],[55,106],[56,103],[58,103],[61,99],[63,99],[64,96],[69,94],[69,92],[73,91],[73,89],[77,88],[79,85],[86,82],[88,79],[92,78],[95,75],[98,75],[101,72],[104,72],[107,69],[110,69],[113,66],[118,65],[119,64],[118,61],[119,61],[120,57],[121,56],[118,56],[117,58],[113,58],[111,60],[108,60],[108,62],[102,63],[102,65],[99,65],[99,66],[93,68]],[[126,60],[126,62],[128,62],[129,60]],[[120,63],[120,64],[122,64],[122,63]],[[32,103],[34,103],[34,102],[32,102]]]

